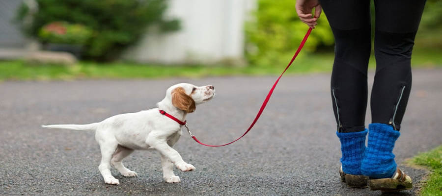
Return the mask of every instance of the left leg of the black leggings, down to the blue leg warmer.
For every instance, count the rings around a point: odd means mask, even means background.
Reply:
[[[335,40],[331,99],[337,131],[364,131],[371,51],[370,1],[321,0],[321,5]]]

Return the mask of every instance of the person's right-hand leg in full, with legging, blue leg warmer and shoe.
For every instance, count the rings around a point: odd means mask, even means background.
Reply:
[[[361,172],[371,178],[385,178],[388,183],[376,180],[376,185],[370,186],[374,190],[398,191],[412,185],[410,177],[399,175],[403,172],[398,172],[392,150],[411,91],[411,54],[424,4],[425,0],[375,0],[377,65],[371,94],[372,124]],[[402,176],[403,181],[391,180],[394,176]],[[387,189],[387,185],[391,186]]]

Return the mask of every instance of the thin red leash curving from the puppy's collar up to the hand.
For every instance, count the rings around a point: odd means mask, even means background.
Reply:
[[[264,99],[264,102],[262,103],[261,108],[259,109],[258,114],[256,114],[256,117],[253,120],[253,123],[250,124],[249,128],[247,129],[247,131],[241,137],[239,137],[238,139],[234,140],[233,142],[229,142],[229,143],[223,144],[223,145],[207,145],[207,144],[201,143],[198,139],[196,139],[196,137],[189,131],[189,128],[187,128],[187,126],[186,126],[186,128],[188,129],[189,134],[191,134],[193,140],[195,140],[197,143],[199,143],[201,145],[204,145],[204,146],[207,146],[207,147],[223,147],[223,146],[227,146],[229,144],[232,144],[232,143],[238,141],[239,139],[241,139],[242,137],[244,137],[250,131],[250,129],[253,127],[253,125],[255,125],[255,123],[258,121],[259,117],[261,116],[262,112],[264,111],[264,108],[266,107],[267,103],[269,102],[270,97],[273,94],[273,90],[275,90],[276,84],[278,84],[279,79],[282,77],[282,75],[285,73],[285,71],[287,71],[287,69],[290,67],[290,65],[292,65],[292,63],[295,60],[296,56],[298,56],[299,52],[304,47],[304,44],[307,41],[307,38],[310,35],[310,33],[311,33],[311,28],[309,28],[307,33],[305,34],[303,41],[299,45],[298,50],[296,50],[295,55],[293,55],[292,60],[290,61],[290,63],[287,65],[287,67],[284,69],[284,71],[281,73],[281,75],[279,75],[278,79],[276,79],[275,84],[273,84],[272,88],[269,91],[269,94],[267,94],[266,99]]]

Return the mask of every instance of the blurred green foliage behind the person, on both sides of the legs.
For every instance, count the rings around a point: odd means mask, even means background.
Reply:
[[[375,7],[371,3],[372,30],[375,25]],[[254,20],[246,24],[246,57],[251,64],[285,66],[302,40],[307,26],[298,18],[294,0],[258,0]],[[415,49],[440,51],[442,49],[442,1],[427,0],[416,36]],[[374,33],[372,33],[374,37]],[[331,51],[333,35],[324,13],[300,55],[305,51]],[[418,57],[413,55],[413,58]],[[427,59],[438,61],[438,58]],[[419,60],[420,61],[420,60]],[[424,62],[434,64],[432,62]],[[439,61],[436,63],[440,63]]]

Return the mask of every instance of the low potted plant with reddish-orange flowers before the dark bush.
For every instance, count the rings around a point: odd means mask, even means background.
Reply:
[[[53,22],[40,28],[38,38],[43,43],[84,45],[91,35],[84,25]]]

